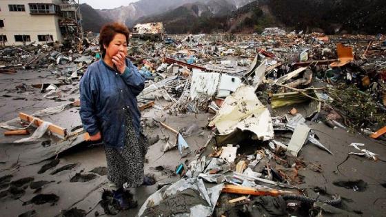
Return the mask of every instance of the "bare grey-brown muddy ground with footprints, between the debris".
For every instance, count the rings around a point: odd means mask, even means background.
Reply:
[[[14,88],[21,83],[56,82],[57,76],[48,71],[32,72],[19,71],[17,74],[0,74],[0,121],[8,121],[17,117],[19,112],[32,114],[38,110],[70,102],[70,99],[79,99],[74,92],[64,93],[64,101],[54,101],[43,98],[39,91],[19,92]],[[69,85],[69,87],[76,87]],[[69,91],[71,92],[71,91]],[[24,98],[24,99],[23,99]],[[72,112],[65,111],[52,118],[52,123],[63,127],[79,125],[79,112],[71,108]],[[147,127],[149,136],[159,136],[159,141],[150,146],[145,163],[145,173],[156,176],[157,183],[152,186],[142,186],[135,191],[139,207],[146,198],[156,191],[161,183],[178,180],[174,174],[175,167],[180,163],[188,163],[194,157],[194,151],[207,143],[212,132],[205,129],[212,114],[170,116],[161,110],[151,108],[143,112],[143,118],[155,117],[165,120],[165,123],[181,129],[192,124],[199,125],[199,134],[186,138],[192,149],[187,158],[181,158],[178,150],[174,149],[163,154],[161,147],[165,139],[173,140],[174,136],[163,127]],[[274,115],[272,115],[274,116]],[[73,120],[73,121],[72,121]],[[321,143],[328,147],[334,155],[307,144],[301,149],[300,158],[307,163],[320,165],[321,172],[304,169],[299,172],[305,176],[304,183],[298,185],[309,196],[317,197],[316,192],[324,189],[322,196],[339,194],[343,198],[342,208],[363,216],[385,216],[386,211],[386,149],[385,142],[375,141],[368,136],[350,133],[341,128],[332,129],[324,123],[309,123],[320,138]],[[108,189],[108,180],[105,176],[105,154],[101,145],[81,143],[64,153],[46,161],[30,152],[30,147],[39,147],[41,141],[30,144],[13,144],[12,141],[23,136],[4,137],[0,130],[0,213],[2,216],[19,216],[32,210],[37,216],[56,216],[61,212],[77,207],[79,213],[87,216],[104,214],[101,205],[101,193]],[[365,143],[365,148],[379,154],[379,161],[370,161],[360,156],[350,156],[354,152],[350,143]],[[247,144],[241,144],[247,145]],[[208,147],[205,153],[210,153]],[[31,164],[34,163],[34,164]],[[46,166],[45,166],[46,165]],[[159,167],[162,166],[162,167]],[[44,167],[44,168],[43,168]],[[161,171],[160,171],[161,169]],[[45,171],[44,171],[45,170]],[[353,187],[339,187],[338,182],[360,181]],[[359,187],[358,189],[356,187]],[[318,188],[319,190],[317,190]],[[117,216],[135,216],[139,210],[122,211]],[[28,216],[28,215],[27,215]]]

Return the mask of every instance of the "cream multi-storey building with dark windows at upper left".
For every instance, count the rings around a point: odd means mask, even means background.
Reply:
[[[69,12],[76,14],[73,9],[79,8],[72,8],[69,1],[63,0],[0,0],[0,43],[61,42],[68,28],[74,28],[74,22],[66,19],[77,17],[69,16]]]

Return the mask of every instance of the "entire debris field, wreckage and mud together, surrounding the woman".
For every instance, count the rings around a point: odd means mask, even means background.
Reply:
[[[157,23],[135,34],[128,58],[146,79],[138,102],[156,185],[130,192],[129,210],[101,200],[103,145],[79,117],[96,37],[1,48],[4,216],[382,216],[385,36],[164,36]]]

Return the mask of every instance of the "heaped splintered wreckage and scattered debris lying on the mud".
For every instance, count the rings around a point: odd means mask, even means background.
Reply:
[[[212,37],[213,39],[213,37]],[[386,133],[386,42],[384,36],[336,36],[283,34],[278,29],[261,35],[230,36],[229,41],[208,40],[205,35],[184,39],[131,41],[128,58],[146,79],[138,96],[141,111],[165,115],[212,113],[207,124],[213,136],[205,148],[192,153],[184,132],[154,121],[176,135],[163,152],[179,149],[192,161],[176,167],[181,180],[165,185],[139,209],[139,216],[254,216],[352,213],[340,209],[341,197],[312,198],[297,185],[301,169],[321,172],[320,165],[298,158],[304,145],[334,154],[318,140],[307,123],[323,122],[385,141]],[[58,68],[63,82],[78,82],[87,65],[100,58],[98,45],[57,52],[54,47],[28,45],[0,50],[1,72],[15,68]],[[354,45],[354,46],[352,46]],[[11,72],[12,71],[12,72]],[[47,99],[57,99],[58,87],[41,85]],[[60,90],[59,90],[60,92]],[[50,98],[50,97],[54,98]],[[20,114],[39,126],[28,139],[45,132],[59,134],[65,148],[87,139],[81,127],[66,132],[38,117],[77,106],[77,102],[37,114]],[[79,106],[79,105],[78,105]],[[8,130],[16,129],[2,123]],[[10,131],[12,133],[12,131]],[[77,136],[81,135],[78,139]],[[23,139],[25,141],[26,139]],[[18,141],[20,142],[20,141]],[[59,141],[55,141],[59,143]],[[349,154],[377,161],[378,155],[353,143]],[[44,157],[63,149],[50,150]],[[353,214],[354,215],[354,214]]]

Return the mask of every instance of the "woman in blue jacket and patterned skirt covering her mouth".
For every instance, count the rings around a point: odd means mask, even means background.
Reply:
[[[128,41],[125,25],[104,25],[99,36],[102,59],[88,67],[80,83],[83,127],[91,141],[103,141],[110,186],[118,188],[144,183],[143,166],[148,150],[136,101],[144,79],[126,58]]]

